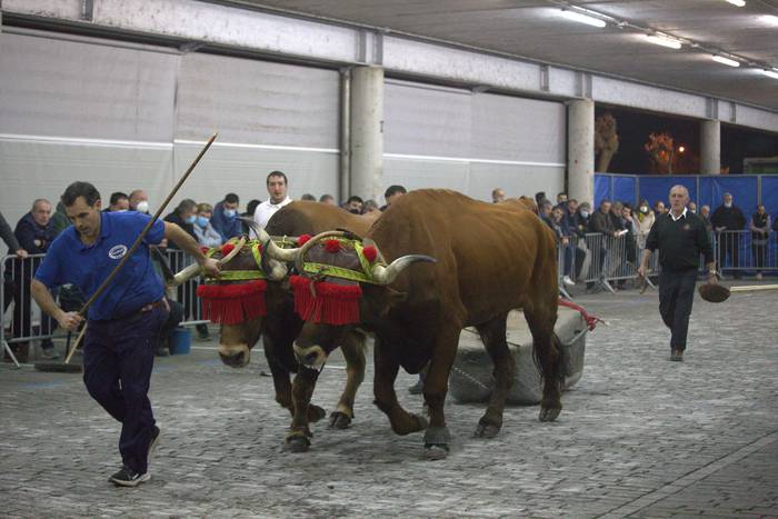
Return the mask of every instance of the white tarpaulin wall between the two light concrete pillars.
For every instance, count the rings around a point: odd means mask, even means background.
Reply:
[[[383,183],[450,188],[481,200],[556,194],[565,183],[558,102],[387,80]]]

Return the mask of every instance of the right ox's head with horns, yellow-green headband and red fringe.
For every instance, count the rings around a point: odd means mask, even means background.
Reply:
[[[381,315],[395,293],[381,290],[412,263],[435,262],[422,254],[403,256],[386,265],[378,248],[345,231],[301,237],[301,247],[286,250],[298,275],[290,277],[295,310],[303,327],[295,341],[295,356],[308,368],[320,369],[342,345],[346,333],[360,326],[362,316]],[[270,252],[269,252],[270,254]],[[366,297],[365,292],[371,297]]]

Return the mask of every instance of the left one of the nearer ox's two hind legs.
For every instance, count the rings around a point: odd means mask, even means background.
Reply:
[[[495,363],[495,389],[489,397],[489,406],[486,412],[478,420],[476,436],[493,438],[502,427],[502,411],[506,406],[508,392],[513,386],[516,376],[516,362],[510,356],[508,342],[506,340],[506,321],[508,315],[505,313],[489,322],[476,327],[481,336],[481,341]]]

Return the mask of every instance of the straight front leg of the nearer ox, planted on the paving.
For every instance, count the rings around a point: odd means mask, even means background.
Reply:
[[[425,379],[425,402],[429,409],[430,419],[425,432],[425,456],[430,460],[446,458],[449,450],[451,435],[446,426],[443,405],[448,393],[448,378],[457,356],[460,331],[458,328],[451,328],[438,332],[429,371]]]

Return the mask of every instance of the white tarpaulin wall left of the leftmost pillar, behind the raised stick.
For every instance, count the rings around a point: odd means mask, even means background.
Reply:
[[[273,169],[296,196],[337,193],[337,72],[47,36],[0,34],[0,210],[11,226],[74,180],[106,200],[146,189],[156,209],[217,130],[173,202],[266,199]]]

